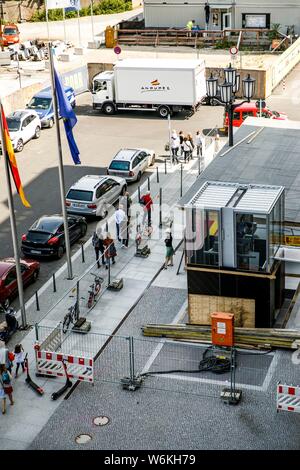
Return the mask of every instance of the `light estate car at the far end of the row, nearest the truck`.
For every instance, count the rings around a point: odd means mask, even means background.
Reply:
[[[128,182],[139,181],[142,173],[154,163],[154,150],[121,149],[112,159],[107,173],[113,176],[121,176]]]

